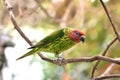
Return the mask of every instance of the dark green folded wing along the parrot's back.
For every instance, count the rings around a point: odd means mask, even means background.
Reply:
[[[64,29],[60,29],[60,30],[55,31],[55,32],[51,33],[50,35],[46,36],[44,39],[42,39],[40,42],[38,42],[35,46],[32,46],[28,49],[42,47],[43,45],[53,42],[57,38],[61,38],[63,35],[64,35]]]

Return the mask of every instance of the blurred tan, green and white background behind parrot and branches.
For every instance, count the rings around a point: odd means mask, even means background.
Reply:
[[[33,42],[49,33],[71,27],[86,34],[86,42],[65,51],[65,58],[100,55],[115,37],[114,31],[99,0],[8,0],[16,21]],[[120,32],[120,0],[104,0]],[[30,47],[11,23],[8,11],[0,2],[0,80],[89,80],[94,62],[72,63],[65,67],[43,61],[38,55],[16,61]],[[53,54],[43,53],[54,59]],[[109,57],[120,56],[116,41],[107,52]],[[110,63],[101,62],[95,76],[103,73]],[[111,73],[120,73],[116,66]],[[111,79],[119,80],[119,79]]]

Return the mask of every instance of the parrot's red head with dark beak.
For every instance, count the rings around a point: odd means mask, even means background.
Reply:
[[[68,34],[69,38],[75,42],[84,42],[85,41],[85,34],[79,30],[71,30]]]

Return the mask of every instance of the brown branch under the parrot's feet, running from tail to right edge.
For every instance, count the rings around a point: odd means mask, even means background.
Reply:
[[[46,57],[42,57],[43,60],[46,60],[50,63],[54,63],[57,65],[66,65],[68,63],[75,63],[75,62],[93,62],[96,60],[102,60],[102,61],[106,61],[106,62],[110,62],[110,63],[115,63],[120,65],[120,61],[113,59],[113,58],[109,58],[109,57],[105,57],[105,56],[93,56],[93,57],[82,57],[82,58],[72,58],[72,59],[63,59],[62,61],[59,60],[51,60],[48,59]]]

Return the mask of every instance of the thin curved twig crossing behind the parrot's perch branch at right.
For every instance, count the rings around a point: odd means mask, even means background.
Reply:
[[[108,49],[111,47],[111,45],[112,45],[116,40],[117,40],[117,37],[114,38],[114,39],[106,46],[105,50],[104,50],[103,53],[101,54],[102,56],[105,56],[105,55],[106,55]],[[93,69],[92,69],[91,79],[94,78],[94,73],[95,73],[95,70],[96,70],[96,68],[97,68],[97,66],[98,66],[99,63],[100,63],[100,60],[98,60],[98,61],[95,63],[95,65],[94,65],[94,67],[93,67]]]

